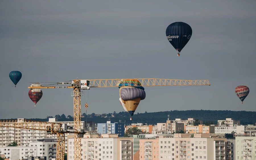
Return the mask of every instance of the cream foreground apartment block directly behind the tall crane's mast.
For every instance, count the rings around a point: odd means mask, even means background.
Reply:
[[[117,138],[117,134],[102,134],[100,138],[81,138],[82,159],[139,160],[139,138]],[[74,159],[74,138],[68,136],[68,160]]]

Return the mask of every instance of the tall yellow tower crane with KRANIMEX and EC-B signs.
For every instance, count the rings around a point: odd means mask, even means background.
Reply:
[[[127,78],[125,78],[127,79]],[[130,78],[138,80],[141,86],[210,86],[209,80],[174,80],[174,79],[158,79],[158,78]],[[81,137],[85,131],[81,129],[81,90],[87,90],[94,87],[118,87],[120,81],[124,79],[95,79],[95,80],[72,80],[67,82],[29,82],[28,88],[73,88],[71,96],[73,96],[74,104],[74,158],[81,160]],[[131,85],[130,85],[131,86]],[[136,84],[135,84],[136,86]],[[85,105],[86,110],[88,105]],[[57,132],[58,133],[58,132]],[[64,149],[63,149],[64,151]],[[64,155],[64,154],[63,154]],[[60,160],[61,157],[57,157]]]

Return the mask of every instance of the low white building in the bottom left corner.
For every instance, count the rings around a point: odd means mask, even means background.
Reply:
[[[36,153],[36,146],[29,147],[0,147],[0,154],[5,155],[9,160],[26,159],[34,156]]]

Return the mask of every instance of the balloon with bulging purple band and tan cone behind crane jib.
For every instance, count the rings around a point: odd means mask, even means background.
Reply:
[[[131,85],[132,83],[133,86],[128,85]],[[130,113],[130,120],[132,120],[132,116],[137,109],[140,101],[145,99],[146,97],[144,88],[142,86],[136,85],[141,85],[138,80],[123,80],[123,83],[119,84],[119,86],[122,86],[119,89],[119,95],[121,98],[119,100],[121,100],[120,102],[122,106],[125,107],[125,111],[128,111],[128,113]]]

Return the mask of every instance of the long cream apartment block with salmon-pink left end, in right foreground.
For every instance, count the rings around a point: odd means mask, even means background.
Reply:
[[[226,159],[226,138],[208,138],[209,134],[195,136],[190,138],[189,134],[174,134],[174,138],[141,139],[140,160]]]

